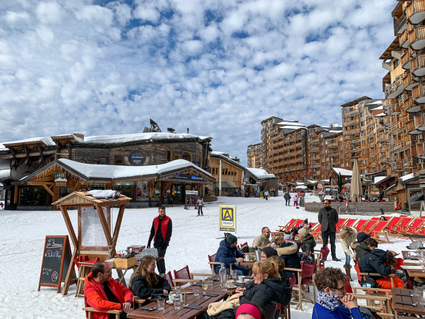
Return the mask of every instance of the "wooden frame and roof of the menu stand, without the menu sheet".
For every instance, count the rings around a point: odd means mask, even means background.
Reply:
[[[121,227],[122,216],[124,215],[125,205],[130,202],[131,198],[124,195],[120,195],[116,199],[112,198],[95,198],[84,191],[76,191],[65,197],[62,197],[52,205],[56,205],[62,212],[63,219],[65,220],[66,227],[68,228],[69,236],[71,237],[72,244],[74,245],[74,251],[71,256],[71,263],[68,267],[68,272],[65,277],[65,284],[62,289],[62,295],[68,293],[69,285],[71,284],[71,275],[74,271],[74,260],[78,256],[88,255],[90,259],[99,257],[100,260],[106,260],[113,258],[116,255],[115,245],[118,239],[119,228]],[[113,236],[111,236],[111,222],[105,218],[103,208],[109,213],[111,206],[119,206],[118,216],[116,218],[115,229]],[[69,218],[67,207],[77,207],[78,209],[78,237],[75,235],[74,228]],[[96,208],[97,214],[99,215],[100,223],[102,225],[103,232],[105,234],[107,246],[82,246],[82,209],[84,208]],[[110,216],[110,215],[109,215]],[[108,218],[109,219],[109,218]],[[119,270],[120,277],[122,271]],[[123,279],[124,280],[124,279]],[[125,282],[123,282],[125,285]]]

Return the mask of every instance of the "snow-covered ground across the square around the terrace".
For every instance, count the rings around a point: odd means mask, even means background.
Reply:
[[[307,195],[306,201],[318,202],[319,199]],[[278,225],[285,225],[291,218],[317,221],[317,214],[303,211],[302,208],[285,206],[284,202],[283,196],[270,197],[268,201],[219,197],[217,202],[204,206],[204,217],[195,216],[194,209],[186,211],[183,206],[167,208],[167,215],[173,220],[173,236],[165,256],[167,271],[189,265],[191,272],[211,272],[207,255],[217,251],[221,241],[219,237],[224,236],[219,231],[219,205],[236,205],[236,236],[239,243],[247,241],[249,245],[255,236],[261,234],[263,226],[275,231],[279,229]],[[118,208],[113,208],[113,220],[117,213]],[[77,230],[77,211],[70,211],[69,214],[74,229]],[[152,219],[157,214],[157,208],[126,209],[116,249],[122,250],[129,245],[146,245]],[[75,285],[70,287],[68,296],[57,293],[56,288],[41,287],[40,292],[37,291],[45,236],[68,234],[62,214],[59,211],[0,211],[0,217],[0,317],[84,318],[85,314],[81,310],[84,301],[81,297],[74,297]],[[405,239],[393,241],[392,246],[397,252],[410,242]],[[320,248],[320,244],[317,248]],[[345,260],[339,240],[337,256]],[[328,261],[326,266],[343,269],[343,262]],[[131,273],[128,271],[125,276],[127,282]],[[353,278],[354,275],[353,268]],[[116,273],[113,276],[116,277]],[[352,285],[357,283],[352,282]],[[303,311],[292,310],[294,318],[311,318],[312,306],[304,302]]]

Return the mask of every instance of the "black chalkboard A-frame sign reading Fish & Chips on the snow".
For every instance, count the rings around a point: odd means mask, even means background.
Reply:
[[[60,285],[65,281],[68,267],[71,264],[71,246],[68,235],[46,236],[43,250],[43,260],[41,263],[40,281],[38,291],[41,286],[57,287],[60,292]],[[71,284],[76,283],[77,276],[73,271]],[[72,282],[74,280],[74,282]]]

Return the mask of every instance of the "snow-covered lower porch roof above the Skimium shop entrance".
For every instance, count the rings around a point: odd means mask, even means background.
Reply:
[[[155,178],[190,169],[198,171],[201,174],[210,177],[210,179],[214,179],[210,173],[185,159],[176,159],[165,164],[145,166],[88,164],[74,162],[71,159],[58,159],[51,162],[48,166],[44,166],[35,171],[29,175],[27,179],[39,174],[40,171],[43,171],[50,165],[54,164],[70,170],[73,174],[78,175],[85,180],[108,180],[114,182],[120,180]]]

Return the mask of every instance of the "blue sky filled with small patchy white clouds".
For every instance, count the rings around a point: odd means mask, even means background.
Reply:
[[[395,0],[0,1],[0,142],[81,131],[213,137],[246,165],[261,121],[339,122],[383,98]]]

